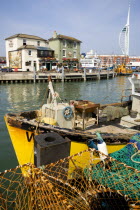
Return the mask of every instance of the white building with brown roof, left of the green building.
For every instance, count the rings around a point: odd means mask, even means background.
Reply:
[[[38,36],[16,34],[5,39],[7,66],[16,71],[52,69],[56,60],[48,41]]]

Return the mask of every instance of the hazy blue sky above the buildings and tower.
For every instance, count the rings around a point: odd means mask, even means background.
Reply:
[[[82,41],[81,53],[122,54],[119,34],[130,0],[0,0],[0,56],[5,38],[30,34],[44,39],[53,32]],[[140,0],[130,2],[131,56],[140,56]]]

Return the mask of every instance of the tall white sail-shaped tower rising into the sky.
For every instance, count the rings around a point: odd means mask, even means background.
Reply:
[[[127,23],[123,27],[119,35],[119,45],[123,55],[129,56],[129,18],[130,18],[130,5],[128,9]]]

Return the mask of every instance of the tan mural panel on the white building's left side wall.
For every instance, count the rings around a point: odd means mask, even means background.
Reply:
[[[21,50],[9,52],[9,66],[10,68],[22,68]]]

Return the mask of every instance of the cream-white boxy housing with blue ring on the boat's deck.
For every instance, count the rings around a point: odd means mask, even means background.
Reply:
[[[52,118],[60,128],[74,128],[74,106],[68,103],[44,104],[42,106],[42,117]]]

